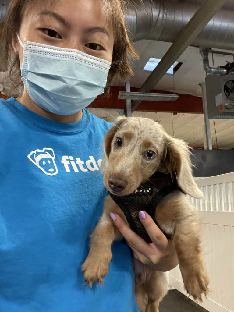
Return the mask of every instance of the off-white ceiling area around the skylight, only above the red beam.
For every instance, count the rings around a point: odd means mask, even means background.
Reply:
[[[143,70],[149,58],[162,58],[170,46],[171,43],[153,40],[141,40],[134,43],[134,47],[139,53],[140,61],[133,64],[134,77],[130,81],[132,87],[141,87],[151,73]],[[223,51],[227,52],[227,50]],[[229,52],[234,53],[234,51]],[[226,65],[226,61],[233,62],[234,60],[233,56],[223,54],[213,54],[213,57],[215,67]],[[213,66],[212,54],[209,55],[209,60],[210,66]],[[199,48],[189,46],[177,61],[183,63],[179,70],[174,75],[164,75],[154,89],[202,96],[199,84],[205,81],[206,73],[203,69]],[[115,80],[112,85],[124,85],[124,83]]]

